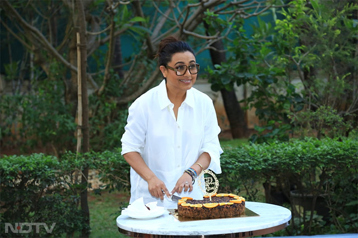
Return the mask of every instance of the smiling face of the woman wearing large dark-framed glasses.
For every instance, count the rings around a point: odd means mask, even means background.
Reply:
[[[189,66],[195,63],[196,61],[194,55],[191,52],[186,51],[173,54],[171,61],[167,65],[172,68],[177,68],[181,65]],[[163,65],[160,66],[160,69],[163,76],[167,78],[167,87],[169,90],[174,90],[177,92],[178,90],[186,91],[190,89],[196,81],[197,74],[190,74],[189,69],[187,69],[185,74],[182,76],[177,76],[174,70]]]

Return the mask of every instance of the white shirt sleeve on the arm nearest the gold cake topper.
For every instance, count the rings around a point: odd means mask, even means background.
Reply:
[[[208,108],[208,115],[205,122],[204,142],[199,153],[207,152],[210,155],[211,162],[208,169],[216,174],[221,173],[220,154],[223,153],[218,139],[220,131],[221,129],[217,123],[214,105],[211,104]]]

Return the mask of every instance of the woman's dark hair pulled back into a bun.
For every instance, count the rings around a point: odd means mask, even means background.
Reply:
[[[155,58],[159,58],[159,65],[167,65],[171,61],[173,54],[178,52],[191,52],[194,56],[194,51],[185,41],[176,39],[173,36],[168,36],[159,43],[158,53]]]

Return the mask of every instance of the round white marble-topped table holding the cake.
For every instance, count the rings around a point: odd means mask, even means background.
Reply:
[[[245,202],[245,207],[259,216],[180,222],[169,212],[148,220],[121,215],[117,226],[132,237],[250,237],[281,230],[291,219],[291,211],[282,206]]]

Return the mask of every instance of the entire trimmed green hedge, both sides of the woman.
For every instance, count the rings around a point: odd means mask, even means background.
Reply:
[[[14,235],[5,233],[6,222],[46,222],[49,226],[56,222],[51,234],[42,228],[40,234],[15,236],[71,236],[82,228],[89,229],[82,227],[78,205],[80,191],[85,187],[81,187],[78,175],[81,168],[88,166],[100,172],[101,181],[107,184],[104,189],[129,191],[130,168],[120,150],[77,157],[67,152],[59,159],[44,154],[1,158],[1,236]],[[288,199],[283,205],[292,209],[289,192],[294,188],[316,197],[325,194],[329,218],[323,221],[314,212],[307,213],[303,222],[297,220],[301,217],[294,217],[292,226],[286,229],[289,235],[357,232],[356,140],[306,138],[224,150],[222,173],[217,175],[219,192],[239,193],[248,201],[273,202],[273,192],[279,191]]]

